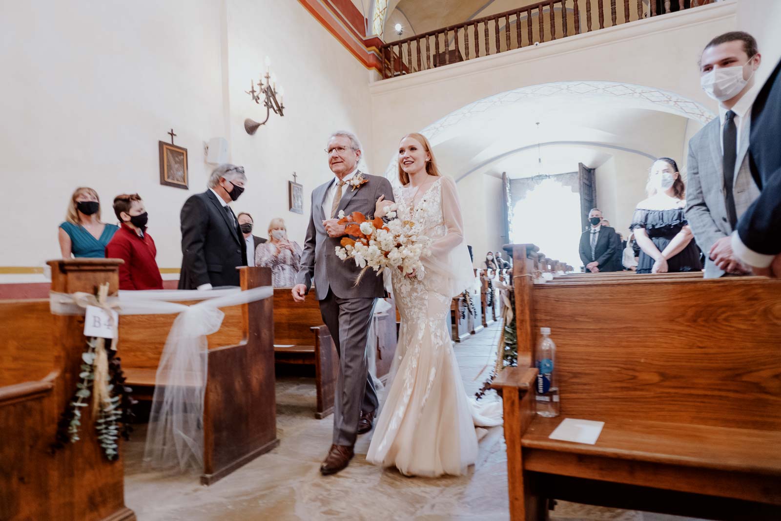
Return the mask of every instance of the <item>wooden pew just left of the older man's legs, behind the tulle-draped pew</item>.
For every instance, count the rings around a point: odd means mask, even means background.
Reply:
[[[313,291],[305,302],[297,303],[291,288],[274,288],[274,360],[284,365],[315,366],[315,416],[323,419],[333,413],[339,354]]]

